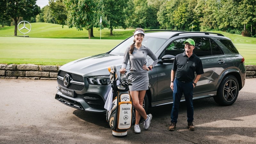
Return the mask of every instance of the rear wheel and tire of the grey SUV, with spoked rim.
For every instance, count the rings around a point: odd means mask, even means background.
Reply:
[[[239,85],[236,77],[228,75],[221,81],[217,95],[213,99],[221,106],[230,106],[236,101],[238,93]]]

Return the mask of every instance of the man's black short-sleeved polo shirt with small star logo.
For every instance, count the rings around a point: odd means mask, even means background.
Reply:
[[[196,75],[204,73],[200,58],[194,53],[188,58],[185,51],[176,55],[172,70],[176,71],[175,78],[184,82],[193,81],[195,79],[195,72]]]

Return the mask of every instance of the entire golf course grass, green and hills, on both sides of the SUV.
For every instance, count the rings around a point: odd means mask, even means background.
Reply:
[[[108,28],[100,31],[93,29],[94,36],[88,39],[88,31],[77,31],[49,23],[31,23],[29,37],[12,36],[14,27],[0,28],[0,63],[1,64],[36,64],[63,65],[72,60],[108,52],[124,39],[132,35],[134,29],[114,29],[114,36],[109,36]],[[256,65],[256,38],[232,35],[220,31],[229,37],[245,64]],[[23,36],[18,31],[19,36]],[[101,36],[101,39],[100,39]]]

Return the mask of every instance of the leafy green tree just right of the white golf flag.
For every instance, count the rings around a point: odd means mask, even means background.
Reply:
[[[127,2],[128,0],[104,0],[104,14],[109,21],[110,36],[113,36],[113,28],[126,28],[124,9]]]

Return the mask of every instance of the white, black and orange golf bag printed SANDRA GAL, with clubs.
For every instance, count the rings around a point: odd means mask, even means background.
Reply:
[[[129,93],[129,85],[131,80],[128,76],[132,74],[129,72],[126,74],[120,74],[120,84],[117,85],[118,76],[116,74],[116,66],[108,67],[110,72],[111,87],[113,89],[111,110],[107,111],[107,122],[112,129],[112,135],[114,137],[127,136],[127,130],[132,126],[135,119],[132,97]]]

